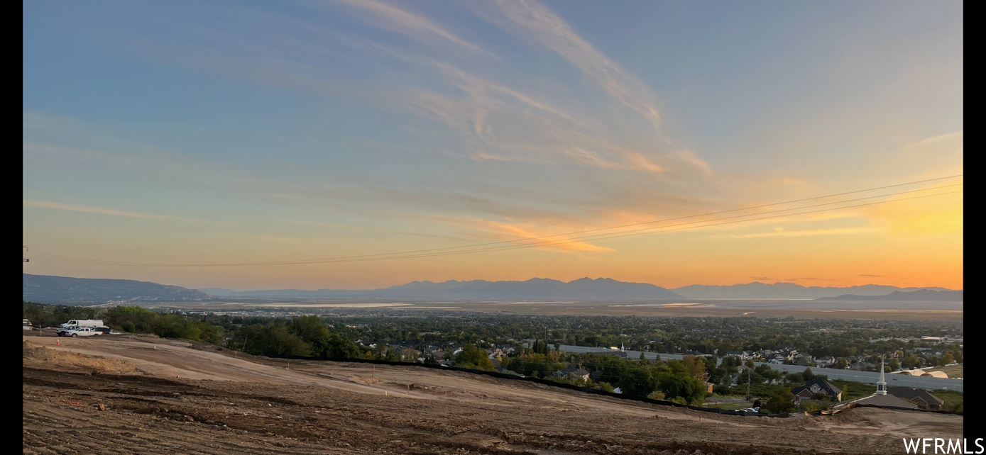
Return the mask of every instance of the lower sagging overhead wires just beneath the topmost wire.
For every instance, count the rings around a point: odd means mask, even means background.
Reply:
[[[944,187],[948,187],[948,186],[956,186],[956,185],[944,185],[944,186],[938,187],[938,188],[944,188]],[[937,188],[929,188],[929,189],[937,189]],[[921,191],[921,190],[914,190],[914,191]],[[893,193],[893,194],[911,193],[911,192],[914,192],[914,191],[904,191],[904,192]],[[845,207],[833,207],[833,208],[828,208],[828,209],[820,209],[820,210],[814,210],[814,211],[808,211],[808,212],[799,212],[799,213],[794,213],[794,214],[775,215],[775,216],[771,216],[771,217],[761,217],[761,218],[755,218],[755,219],[749,219],[749,220],[733,220],[733,221],[724,222],[724,223],[706,224],[706,225],[701,225],[701,226],[685,226],[685,225],[695,225],[695,224],[699,224],[699,223],[709,223],[709,222],[716,222],[716,221],[722,221],[722,220],[728,220],[728,219],[734,219],[734,218],[749,217],[749,216],[755,216],[755,215],[764,215],[765,213],[751,214],[751,215],[743,215],[743,216],[738,216],[738,217],[727,217],[727,218],[722,218],[722,219],[717,219],[717,220],[707,220],[707,221],[702,221],[702,222],[693,222],[693,223],[685,223],[685,224],[679,224],[679,225],[669,226],[669,227],[675,227],[675,228],[668,228],[668,227],[648,227],[648,228],[643,228],[643,229],[632,229],[632,230],[624,230],[624,231],[620,231],[620,232],[611,232],[611,233],[605,233],[605,234],[596,234],[596,235],[590,235],[590,236],[587,236],[587,237],[580,237],[580,238],[575,238],[575,239],[549,240],[549,241],[546,241],[546,242],[522,243],[522,244],[519,244],[519,245],[518,244],[512,244],[512,245],[507,245],[507,246],[502,246],[502,247],[478,248],[478,249],[464,250],[464,251],[446,251],[446,252],[433,252],[433,253],[424,253],[424,254],[392,253],[391,255],[389,255],[387,257],[369,257],[369,256],[367,256],[367,257],[362,257],[362,258],[326,259],[326,260],[318,260],[318,261],[312,261],[312,262],[297,262],[297,261],[290,261],[289,262],[289,261],[285,261],[285,262],[269,262],[269,263],[228,263],[228,264],[147,264],[147,263],[123,263],[123,262],[115,262],[115,261],[101,261],[101,260],[82,259],[82,258],[68,258],[68,257],[48,255],[48,254],[43,254],[43,253],[35,253],[35,254],[43,255],[44,256],[44,259],[50,260],[50,261],[54,261],[54,262],[66,262],[66,263],[90,264],[90,265],[117,265],[117,266],[126,265],[126,266],[137,266],[137,267],[221,267],[221,266],[232,267],[232,266],[255,266],[255,265],[327,264],[327,263],[336,263],[336,262],[363,262],[363,261],[389,260],[389,259],[409,259],[409,258],[419,258],[419,257],[449,256],[449,255],[456,255],[456,254],[467,254],[467,253],[486,252],[486,251],[502,251],[502,250],[508,250],[508,249],[517,249],[517,248],[535,248],[535,247],[543,247],[543,246],[556,246],[556,245],[561,245],[561,244],[566,244],[566,243],[574,243],[574,242],[579,242],[579,241],[585,241],[588,237],[597,237],[597,238],[591,238],[591,239],[592,240],[601,240],[601,239],[606,239],[606,238],[616,238],[616,237],[624,237],[624,236],[631,236],[631,235],[642,235],[642,234],[647,234],[647,233],[659,233],[659,232],[667,232],[667,231],[673,231],[673,230],[682,230],[682,229],[689,229],[689,228],[695,228],[695,227],[714,227],[714,226],[722,226],[722,225],[731,225],[731,224],[736,224],[736,223],[752,222],[752,221],[759,221],[759,220],[769,220],[769,219],[790,217],[790,216],[796,216],[796,215],[806,215],[806,214],[819,213],[819,212],[828,212],[828,211],[839,210],[839,209],[850,209],[850,208],[855,208],[855,207],[864,207],[864,206],[872,206],[872,205],[878,205],[878,204],[886,204],[886,203],[890,203],[890,202],[899,202],[899,201],[906,201],[906,200],[912,200],[912,199],[921,199],[921,198],[927,198],[927,197],[932,197],[932,196],[943,196],[943,195],[947,195],[947,194],[954,194],[954,193],[961,193],[961,192],[962,192],[962,190],[950,191],[950,192],[945,192],[945,193],[936,193],[936,194],[929,194],[929,195],[923,195],[923,196],[914,196],[914,197],[909,197],[909,198],[898,198],[898,199],[891,199],[891,200],[888,200],[888,201],[878,201],[878,202],[872,202],[872,203],[866,203],[866,204],[857,204],[857,205],[845,206]],[[890,195],[892,195],[892,194],[890,194]],[[802,209],[808,209],[808,208],[812,208],[812,207],[820,207],[820,206],[826,206],[826,205],[832,205],[832,204],[844,204],[844,203],[847,203],[847,202],[859,201],[859,200],[864,200],[864,199],[873,199],[873,198],[876,198],[876,197],[886,197],[886,196],[889,196],[889,195],[872,196],[872,197],[868,197],[868,198],[859,198],[859,199],[850,200],[850,201],[839,201],[839,202],[826,203],[826,204],[816,204],[816,205],[812,205],[812,206],[799,207],[799,208],[795,208],[795,209],[785,209],[785,210],[772,211],[772,212],[766,212],[766,213],[787,212],[787,211],[791,211],[791,210],[802,210]],[[685,227],[681,227],[681,226],[685,226]],[[380,255],[374,255],[374,256],[380,256]]]

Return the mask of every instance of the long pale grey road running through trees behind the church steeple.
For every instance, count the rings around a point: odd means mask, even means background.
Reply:
[[[561,345],[561,351],[565,353],[611,353],[613,350],[606,348],[589,348],[585,346],[569,346]],[[627,351],[626,356],[628,358],[640,358],[640,351]],[[644,353],[644,357],[653,360],[658,357],[657,353]],[[681,359],[682,355],[678,354],[661,354],[661,359],[669,360],[671,358]],[[722,362],[722,359],[719,359]],[[755,365],[760,365],[763,362],[753,362]],[[804,366],[800,365],[785,365],[777,363],[767,363],[771,368],[779,371],[788,371],[792,373],[799,373],[805,371]],[[812,367],[811,371],[815,374],[824,374],[828,376],[829,379],[842,379],[846,381],[856,381],[863,382],[866,384],[876,384],[880,382],[880,373],[876,371],[854,371],[850,369],[836,369],[836,368],[817,368]],[[956,392],[962,391],[962,380],[961,379],[951,379],[951,378],[941,378],[941,377],[928,377],[928,376],[908,376],[906,374],[886,374],[886,383],[891,386],[903,386],[903,387],[915,387],[919,389],[947,389],[954,390]]]

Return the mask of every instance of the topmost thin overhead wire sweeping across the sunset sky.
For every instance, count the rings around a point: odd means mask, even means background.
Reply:
[[[597,228],[593,228],[593,229],[577,230],[577,231],[572,231],[572,232],[556,233],[556,234],[551,234],[551,235],[542,235],[542,236],[535,236],[535,237],[517,238],[517,239],[513,239],[513,240],[499,240],[499,241],[493,241],[493,242],[487,242],[487,243],[473,243],[471,245],[447,246],[447,247],[443,247],[443,248],[429,248],[429,249],[410,250],[410,251],[398,251],[398,252],[393,252],[393,253],[364,254],[364,255],[356,255],[356,256],[336,256],[336,257],[330,257],[330,258],[317,258],[317,259],[296,259],[296,260],[288,260],[288,261],[267,261],[267,262],[250,262],[250,263],[237,263],[237,264],[189,264],[187,266],[196,266],[196,265],[197,266],[234,266],[234,265],[244,265],[244,266],[251,265],[252,266],[252,265],[309,264],[309,263],[320,263],[321,261],[334,261],[334,260],[339,260],[339,259],[357,259],[357,258],[368,258],[368,257],[379,257],[379,256],[392,256],[392,255],[398,255],[398,254],[415,254],[415,253],[427,253],[427,252],[431,252],[431,251],[445,251],[445,250],[475,248],[475,247],[478,247],[478,246],[497,245],[497,244],[504,244],[504,243],[510,243],[511,245],[516,245],[518,242],[522,242],[522,241],[526,241],[526,240],[537,240],[537,239],[542,239],[542,238],[558,237],[558,236],[572,235],[572,234],[585,233],[585,232],[594,232],[594,231],[599,231],[599,230],[611,230],[611,229],[617,229],[617,228],[621,228],[621,227],[635,227],[635,226],[643,226],[643,225],[653,225],[653,224],[657,224],[657,223],[665,223],[665,222],[671,222],[671,221],[686,220],[686,219],[689,219],[689,218],[707,217],[707,216],[711,216],[711,215],[721,215],[721,214],[725,214],[725,213],[740,212],[740,211],[744,211],[744,210],[753,210],[753,209],[760,209],[760,208],[764,208],[764,207],[772,207],[772,206],[779,206],[779,205],[786,205],[786,204],[794,204],[796,202],[805,202],[805,201],[812,201],[812,200],[817,200],[817,199],[825,199],[825,198],[836,197],[836,196],[845,196],[847,194],[864,193],[864,192],[868,192],[868,191],[876,191],[876,190],[880,190],[880,189],[894,188],[894,187],[898,187],[898,186],[914,185],[914,184],[926,183],[926,182],[930,182],[930,181],[947,180],[947,179],[950,179],[950,178],[956,178],[956,177],[961,177],[961,176],[963,176],[963,174],[955,174],[955,175],[950,175],[950,176],[946,176],[946,177],[928,178],[928,179],[925,179],[925,180],[916,180],[916,181],[910,181],[910,182],[906,182],[906,183],[897,183],[897,184],[893,184],[893,185],[878,186],[878,187],[874,187],[874,188],[867,188],[867,189],[855,190],[855,191],[847,191],[847,192],[844,192],[844,193],[828,194],[828,195],[825,195],[825,196],[815,196],[815,197],[805,198],[805,199],[796,199],[796,200],[793,200],[793,201],[776,202],[776,203],[773,203],[773,204],[763,204],[763,205],[759,205],[759,206],[744,207],[744,208],[740,208],[740,209],[731,209],[731,210],[724,210],[724,211],[719,211],[719,212],[710,212],[710,213],[699,214],[699,215],[689,215],[689,216],[686,216],[686,217],[669,218],[669,219],[665,219],[665,220],[656,220],[656,221],[651,221],[651,222],[634,223],[634,224],[630,224],[630,225],[622,225],[622,226],[614,226],[614,227],[597,227]],[[931,189],[935,189],[935,188],[943,188],[943,187],[924,188],[924,189],[919,189],[919,190],[914,190],[914,191],[927,191],[927,190],[931,190]],[[902,194],[902,193],[890,193],[890,194],[886,194],[886,195],[883,195],[883,196],[890,196],[890,195],[894,195],[894,194]],[[814,207],[814,206],[809,206],[809,207]],[[49,256],[51,256],[51,255],[49,255]],[[70,258],[70,257],[65,257],[65,256],[52,256],[52,257],[58,257],[60,259],[88,260],[88,259],[83,259],[83,258]],[[120,262],[120,261],[102,261],[102,262],[112,263],[112,264],[118,264],[118,265],[143,265],[141,263]],[[106,265],[108,265],[108,264],[106,264]],[[186,266],[186,265],[180,265],[180,266]]]

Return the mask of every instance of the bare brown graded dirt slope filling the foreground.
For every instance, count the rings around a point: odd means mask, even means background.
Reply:
[[[929,413],[743,418],[153,337],[24,341],[24,453],[903,453],[902,437],[962,434]]]

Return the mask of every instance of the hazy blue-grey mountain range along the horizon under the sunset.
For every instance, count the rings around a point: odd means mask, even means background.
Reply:
[[[957,292],[957,293],[956,293]],[[82,279],[24,274],[24,299],[37,302],[183,301],[213,298],[449,298],[481,300],[635,300],[669,298],[778,298],[828,300],[961,301],[961,291],[944,288],[897,288],[866,285],[847,288],[804,287],[793,283],[747,283],[733,286],[693,285],[668,290],[646,283],[610,278],[571,282],[533,278],[527,281],[485,280],[442,283],[413,282],[378,290],[264,290],[221,288],[189,290],[132,280]]]

